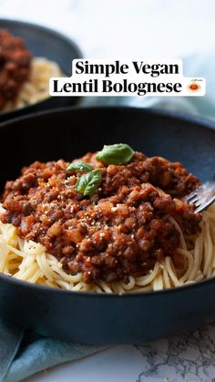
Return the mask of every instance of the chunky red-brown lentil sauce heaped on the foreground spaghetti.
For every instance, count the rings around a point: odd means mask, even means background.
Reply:
[[[43,244],[69,274],[82,272],[87,284],[127,282],[165,256],[174,261],[179,231],[169,216],[185,235],[200,232],[200,213],[181,199],[200,183],[179,162],[140,152],[121,166],[107,166],[92,153],[81,160],[102,171],[92,195],[77,192],[83,173],[67,172],[68,162],[36,161],[5,184],[0,215],[20,237]]]

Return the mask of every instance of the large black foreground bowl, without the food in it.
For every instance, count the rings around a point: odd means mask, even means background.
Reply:
[[[214,128],[206,120],[139,108],[65,108],[16,119],[0,128],[1,185],[33,160],[72,160],[120,141],[147,155],[179,160],[206,181],[215,171]],[[88,344],[143,343],[196,329],[215,319],[214,295],[214,278],[119,296],[67,292],[0,275],[3,318],[45,336]]]

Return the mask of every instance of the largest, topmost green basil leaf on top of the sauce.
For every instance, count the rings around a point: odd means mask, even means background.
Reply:
[[[104,161],[107,164],[120,165],[131,160],[134,153],[134,150],[132,150],[126,143],[105,145],[104,148],[97,153],[96,159]]]

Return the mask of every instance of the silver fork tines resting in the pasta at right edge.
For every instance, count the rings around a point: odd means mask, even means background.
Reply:
[[[202,184],[199,189],[189,194],[186,201],[196,206],[195,213],[207,210],[215,202],[215,182],[207,181]]]

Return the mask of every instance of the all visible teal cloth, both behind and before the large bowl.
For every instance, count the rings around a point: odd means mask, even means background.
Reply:
[[[214,61],[213,54],[192,56],[184,60],[184,75],[206,78],[204,98],[92,97],[84,98],[82,105],[156,107],[215,120],[215,81],[212,72]],[[0,382],[17,382],[48,367],[89,356],[104,348],[105,346],[78,345],[24,333],[15,326],[0,322]]]

